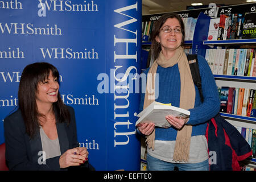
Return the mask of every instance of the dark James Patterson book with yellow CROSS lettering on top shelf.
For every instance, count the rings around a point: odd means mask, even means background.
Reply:
[[[242,28],[242,39],[256,38],[256,12],[245,13]]]

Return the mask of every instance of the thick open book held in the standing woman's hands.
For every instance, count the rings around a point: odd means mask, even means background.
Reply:
[[[157,127],[168,128],[171,125],[166,120],[167,115],[185,119],[189,118],[190,111],[154,101],[137,115],[139,119],[135,125],[137,126],[139,123],[155,123]]]

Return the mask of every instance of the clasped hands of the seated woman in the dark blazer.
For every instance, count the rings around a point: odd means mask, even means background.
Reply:
[[[60,156],[60,168],[67,168],[69,166],[80,166],[88,160],[88,151],[85,147],[76,147],[65,151]]]

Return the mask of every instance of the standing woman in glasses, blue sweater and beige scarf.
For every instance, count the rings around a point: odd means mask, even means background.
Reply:
[[[154,123],[143,123],[138,130],[147,137],[148,170],[209,170],[208,144],[205,138],[207,121],[220,110],[220,100],[212,72],[204,57],[198,55],[204,102],[193,84],[187,56],[184,53],[184,24],[176,14],[164,14],[155,24],[151,52],[154,64],[144,73],[159,85],[158,94],[150,96],[154,86],[141,94],[140,111],[152,102],[171,103],[190,111],[189,119],[166,115],[172,125],[168,129],[155,127]],[[151,73],[148,74],[148,73]],[[158,81],[158,84],[155,84]],[[155,98],[155,100],[154,100]]]

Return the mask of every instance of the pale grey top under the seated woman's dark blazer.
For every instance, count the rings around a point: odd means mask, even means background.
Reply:
[[[40,136],[43,151],[46,152],[46,159],[54,158],[61,155],[59,137],[55,140],[49,139],[46,133],[44,133],[42,127],[40,127]]]

